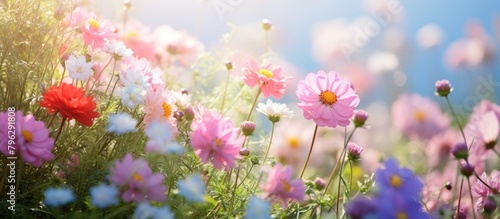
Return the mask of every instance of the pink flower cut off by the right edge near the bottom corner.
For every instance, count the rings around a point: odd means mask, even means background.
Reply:
[[[486,173],[483,173],[481,175],[481,179],[496,191],[500,190],[500,171],[493,170],[493,172],[490,173],[490,176],[488,176]],[[493,193],[491,189],[486,187],[479,180],[472,184],[472,194],[478,197],[476,201],[477,211],[481,211],[483,209],[484,202],[486,201],[488,196],[495,195],[495,193]]]

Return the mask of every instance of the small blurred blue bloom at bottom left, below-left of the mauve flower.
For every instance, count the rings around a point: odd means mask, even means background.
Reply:
[[[115,185],[106,184],[90,188],[90,203],[98,208],[118,204],[118,188]]]

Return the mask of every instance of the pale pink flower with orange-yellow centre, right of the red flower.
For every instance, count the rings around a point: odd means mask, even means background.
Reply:
[[[164,88],[146,89],[146,101],[142,109],[145,114],[145,124],[149,124],[153,120],[174,123],[173,114],[175,111],[177,111],[175,98],[169,90]]]

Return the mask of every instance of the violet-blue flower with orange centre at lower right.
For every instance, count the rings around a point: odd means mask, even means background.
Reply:
[[[375,173],[375,181],[381,192],[395,191],[407,197],[418,198],[423,184],[410,169],[399,168],[394,158],[387,159],[384,166]]]

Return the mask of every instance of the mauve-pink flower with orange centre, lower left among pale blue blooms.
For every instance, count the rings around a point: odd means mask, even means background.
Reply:
[[[131,154],[126,154],[122,162],[115,160],[110,171],[111,182],[124,189],[123,201],[165,201],[165,176],[161,173],[153,174],[144,159],[135,160]]]

